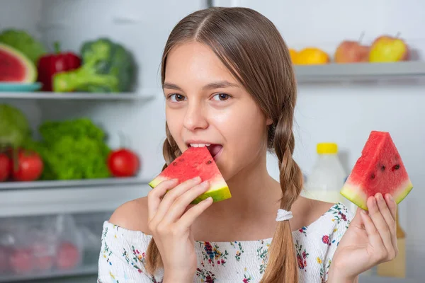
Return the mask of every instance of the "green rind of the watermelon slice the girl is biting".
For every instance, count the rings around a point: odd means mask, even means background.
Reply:
[[[164,180],[168,180],[169,178],[164,178],[159,175],[157,178],[154,178],[151,182],[149,182],[149,186],[153,188],[157,187],[159,183],[162,183]],[[208,197],[212,197],[212,202],[220,202],[222,200],[227,200],[232,197],[229,187],[227,186],[225,180],[221,176],[217,176],[215,180],[210,181],[212,185],[208,191],[204,192],[202,195],[196,197],[195,200],[191,202],[191,204],[198,204]]]

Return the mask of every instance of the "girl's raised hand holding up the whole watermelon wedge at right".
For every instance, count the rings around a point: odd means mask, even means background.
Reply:
[[[362,272],[397,256],[397,204],[390,194],[369,197],[368,212],[356,216],[336,248],[329,268],[329,283],[354,282]]]

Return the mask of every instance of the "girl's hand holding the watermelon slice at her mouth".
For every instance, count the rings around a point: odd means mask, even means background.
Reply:
[[[187,209],[208,190],[208,181],[197,177],[177,183],[165,180],[147,195],[148,225],[164,263],[164,283],[193,282],[198,260],[191,225],[212,204],[209,197]]]

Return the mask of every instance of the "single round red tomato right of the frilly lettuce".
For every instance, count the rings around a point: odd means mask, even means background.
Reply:
[[[139,157],[129,149],[118,149],[108,156],[108,168],[115,177],[134,176],[139,166]]]

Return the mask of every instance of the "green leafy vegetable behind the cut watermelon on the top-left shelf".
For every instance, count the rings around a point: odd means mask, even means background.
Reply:
[[[38,59],[47,53],[44,45],[26,30],[7,29],[0,33],[0,42],[23,52],[37,66]]]

